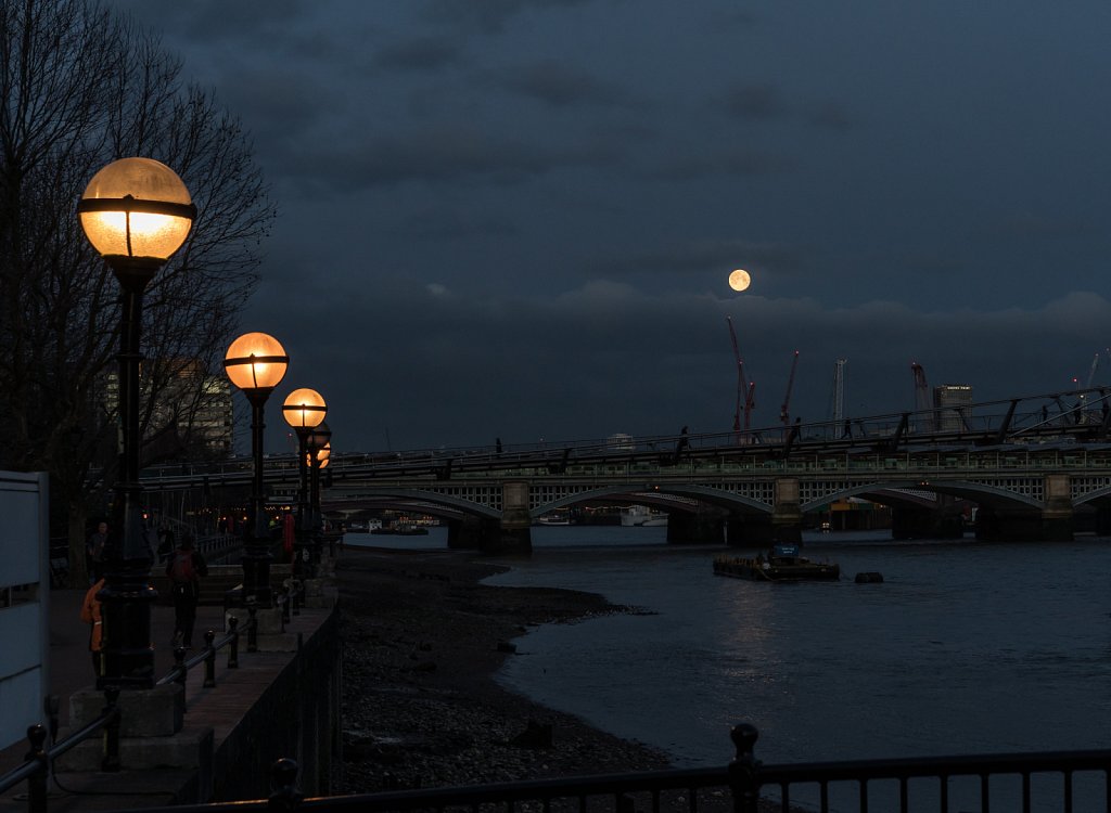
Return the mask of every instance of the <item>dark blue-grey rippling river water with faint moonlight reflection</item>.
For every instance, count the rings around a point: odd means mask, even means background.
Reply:
[[[715,576],[725,549],[665,534],[533,528],[531,559],[488,583],[648,614],[533,629],[498,680],[678,766],[727,762],[741,721],[764,762],[1111,747],[1111,540],[815,533],[807,555],[841,581],[771,584]]]

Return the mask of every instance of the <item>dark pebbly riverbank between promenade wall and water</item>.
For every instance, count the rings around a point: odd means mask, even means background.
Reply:
[[[665,754],[500,687],[492,675],[530,626],[635,612],[567,590],[479,584],[499,566],[457,552],[349,548],[340,792],[544,779],[669,766]]]

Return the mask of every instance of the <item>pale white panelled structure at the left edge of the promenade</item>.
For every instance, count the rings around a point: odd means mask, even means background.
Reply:
[[[50,532],[46,473],[0,471],[0,749],[43,722],[49,685]]]

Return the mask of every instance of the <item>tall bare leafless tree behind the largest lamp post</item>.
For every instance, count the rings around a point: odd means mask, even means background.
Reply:
[[[97,0],[0,0],[0,465],[50,472],[79,570],[84,518],[103,496],[90,482],[103,491],[114,476],[117,415],[104,395],[119,289],[74,211],[89,179],[128,155],[173,168],[199,212],[147,292],[153,403],[181,364],[218,364],[257,284],[274,207],[252,145],[182,81],[154,36]]]

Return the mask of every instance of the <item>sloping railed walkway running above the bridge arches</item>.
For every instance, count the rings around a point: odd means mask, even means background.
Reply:
[[[548,470],[560,473],[572,463],[680,465],[714,455],[790,460],[807,450],[871,452],[937,450],[945,446],[987,450],[992,446],[1030,446],[1107,440],[1111,434],[1111,393],[1083,389],[1029,395],[974,404],[938,406],[842,419],[782,423],[743,431],[621,436],[559,443],[511,443],[480,448],[418,449],[400,452],[333,453],[329,476],[411,476],[428,474],[451,479],[463,472]],[[764,461],[760,461],[765,465]],[[151,466],[142,479],[151,488],[189,488],[206,484],[247,484],[249,458],[223,462]],[[294,454],[266,459],[268,482],[296,484]]]

